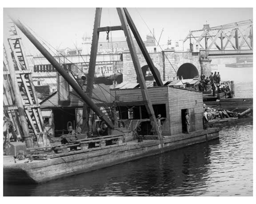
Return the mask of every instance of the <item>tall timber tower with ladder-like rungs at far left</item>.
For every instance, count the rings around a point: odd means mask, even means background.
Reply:
[[[24,137],[27,147],[33,147],[31,135],[38,137],[44,131],[44,121],[21,38],[15,25],[8,24],[9,35],[4,42],[4,115]]]

